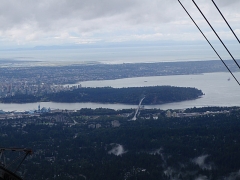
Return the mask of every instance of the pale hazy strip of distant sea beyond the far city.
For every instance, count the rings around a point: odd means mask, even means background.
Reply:
[[[82,63],[145,63],[214,60],[217,56],[205,43],[193,45],[151,45],[127,47],[85,47],[73,49],[2,50],[1,59],[29,61],[30,66]],[[223,51],[224,52],[224,51]],[[226,53],[225,53],[226,54]],[[226,55],[223,58],[229,58]],[[237,49],[236,58],[238,56]],[[235,55],[235,54],[234,54]],[[0,60],[1,60],[0,59]],[[217,59],[218,60],[218,59]],[[33,62],[32,61],[40,61]],[[27,65],[26,63],[24,65]],[[20,64],[22,66],[22,64]]]

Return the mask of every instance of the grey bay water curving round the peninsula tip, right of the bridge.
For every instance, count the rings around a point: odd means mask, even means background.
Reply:
[[[240,79],[240,72],[234,73]],[[228,78],[230,80],[228,81]],[[171,85],[179,87],[195,87],[205,94],[201,98],[192,101],[170,103],[166,105],[146,106],[160,107],[163,109],[182,109],[187,107],[202,106],[240,106],[240,86],[231,78],[229,73],[206,73],[200,75],[178,75],[178,76],[154,76],[127,78],[108,81],[80,82],[83,87],[141,87]]]

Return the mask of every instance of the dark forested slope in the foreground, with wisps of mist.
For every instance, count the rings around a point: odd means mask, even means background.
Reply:
[[[159,113],[158,120],[136,121],[118,115],[131,111],[84,109],[65,114],[78,122],[75,125],[50,123],[50,115],[29,119],[28,124],[26,119],[15,120],[15,126],[13,120],[4,120],[0,146],[34,150],[21,169],[26,180],[240,178],[239,110],[181,118],[167,118],[161,110],[144,110],[143,114]],[[121,126],[112,127],[113,120]],[[91,123],[102,126],[90,128]]]

